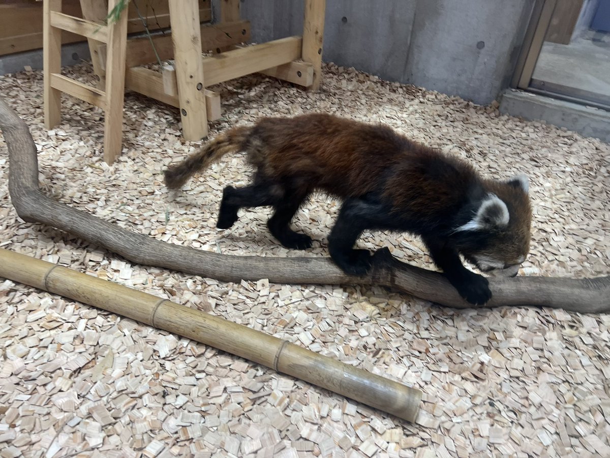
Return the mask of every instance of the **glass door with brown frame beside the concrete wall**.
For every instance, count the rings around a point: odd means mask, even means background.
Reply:
[[[534,5],[514,86],[610,110],[610,0]]]

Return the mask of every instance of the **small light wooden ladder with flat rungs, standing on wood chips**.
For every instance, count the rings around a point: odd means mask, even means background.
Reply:
[[[108,13],[118,2],[119,0],[108,1]],[[84,2],[81,1],[82,3]],[[99,10],[99,0],[88,0],[88,3],[91,9]],[[43,12],[45,127],[52,129],[61,120],[62,92],[100,107],[104,110],[104,161],[112,164],[121,153],[123,137],[127,11],[121,13],[117,23],[107,26],[101,22],[63,14],[62,0],[44,0]],[[87,37],[90,44],[92,41],[106,43],[106,79],[105,82],[104,79],[100,81],[104,90],[61,74],[62,30]],[[101,71],[96,73],[103,75]]]

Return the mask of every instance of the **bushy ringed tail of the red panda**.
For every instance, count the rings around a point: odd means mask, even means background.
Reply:
[[[240,151],[251,131],[251,127],[235,127],[210,140],[197,153],[165,170],[165,186],[178,189],[197,172],[207,169],[225,154]]]

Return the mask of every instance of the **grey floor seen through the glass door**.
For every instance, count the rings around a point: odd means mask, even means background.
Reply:
[[[588,34],[569,45],[545,42],[531,85],[610,106],[610,34]]]

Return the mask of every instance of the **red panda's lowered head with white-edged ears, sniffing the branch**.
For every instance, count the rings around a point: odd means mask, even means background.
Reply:
[[[514,277],[529,252],[532,211],[528,178],[486,181],[472,219],[455,228],[459,252],[479,270]]]

